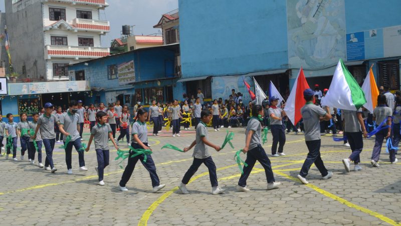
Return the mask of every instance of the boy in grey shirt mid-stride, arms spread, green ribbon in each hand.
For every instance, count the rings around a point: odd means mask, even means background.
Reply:
[[[210,123],[212,118],[211,115],[212,114],[209,110],[203,110],[200,113],[200,118],[202,121],[196,126],[196,139],[189,147],[184,148],[184,152],[187,152],[193,146],[195,146],[192,154],[192,165],[189,167],[188,171],[186,171],[184,177],[182,178],[181,184],[178,186],[182,194],[189,194],[188,190],[186,189],[186,184],[188,184],[189,180],[193,174],[195,174],[199,166],[202,165],[202,163],[204,163],[209,169],[210,181],[212,184],[212,194],[221,194],[224,192],[224,190],[219,187],[219,183],[217,182],[216,165],[215,162],[213,162],[212,156],[210,155],[207,147],[210,146],[216,149],[216,151],[221,150],[219,146],[208,141],[208,128],[206,124]]]

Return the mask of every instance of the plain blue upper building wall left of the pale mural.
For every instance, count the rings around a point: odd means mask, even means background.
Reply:
[[[179,1],[182,77],[286,68],[284,0]]]

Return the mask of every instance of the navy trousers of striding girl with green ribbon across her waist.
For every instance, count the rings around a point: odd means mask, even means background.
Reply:
[[[148,146],[147,143],[143,143],[144,145]],[[136,143],[132,143],[131,146],[134,149],[142,149],[142,147]],[[125,187],[125,184],[127,184],[129,178],[131,177],[132,173],[134,172],[134,168],[138,160],[142,163],[142,165],[146,168],[146,170],[149,172],[150,179],[152,180],[152,187],[156,187],[160,185],[159,177],[157,176],[156,173],[156,166],[154,165],[153,159],[151,155],[147,156],[146,162],[143,162],[143,155],[138,155],[133,158],[131,158],[132,155],[135,153],[133,151],[129,151],[129,157],[128,157],[128,163],[127,166],[125,167],[124,173],[122,174],[121,180],[120,180],[120,186]]]

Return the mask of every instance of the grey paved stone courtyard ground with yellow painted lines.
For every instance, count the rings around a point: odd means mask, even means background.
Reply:
[[[164,131],[164,130],[163,130]],[[56,148],[54,161],[58,171],[49,173],[28,160],[10,161],[0,158],[0,225],[370,225],[397,224],[401,221],[401,164],[390,165],[388,155],[381,156],[380,168],[369,164],[373,140],[364,140],[361,155],[363,170],[346,173],[341,163],[350,150],[331,137],[322,138],[321,153],[326,167],[334,172],[329,180],[321,180],[312,167],[308,175],[310,186],[295,179],[307,148],[303,135],[287,135],[284,157],[270,157],[276,181],[282,186],[266,190],[264,171],[256,165],[248,179],[251,192],[236,192],[240,171],[234,161],[235,151],[243,148],[244,129],[235,132],[235,150],[226,147],[212,151],[218,168],[222,195],[211,195],[208,170],[201,166],[187,185],[191,194],[182,195],[176,189],[191,164],[191,153],[163,149],[170,143],[189,145],[194,131],[182,131],[172,138],[171,130],[162,136],[149,137],[153,159],[162,183],[166,187],[152,193],[147,171],[141,164],[127,183],[128,192],[118,189],[122,169],[114,161],[105,169],[106,186],[97,185],[94,170],[96,154],[85,153],[87,172],[78,171],[78,155],[73,154],[73,175],[67,175],[63,150]],[[88,129],[85,133],[88,134]],[[117,134],[118,135],[118,134]],[[210,140],[221,144],[225,131],[210,132]],[[85,135],[85,141],[88,140]],[[271,135],[264,146],[269,154]],[[60,144],[56,144],[59,147]],[[126,146],[121,146],[125,148]],[[44,152],[43,152],[44,154]],[[18,154],[18,158],[20,158]],[[44,155],[45,156],[45,155]],[[245,159],[245,155],[241,155]],[[26,156],[27,158],[27,156]],[[10,158],[11,159],[11,158]],[[126,161],[124,162],[124,164]]]

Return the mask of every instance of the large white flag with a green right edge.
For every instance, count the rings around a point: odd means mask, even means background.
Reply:
[[[366,98],[363,90],[340,59],[330,88],[321,104],[344,110],[357,110],[364,103],[366,103]]]

